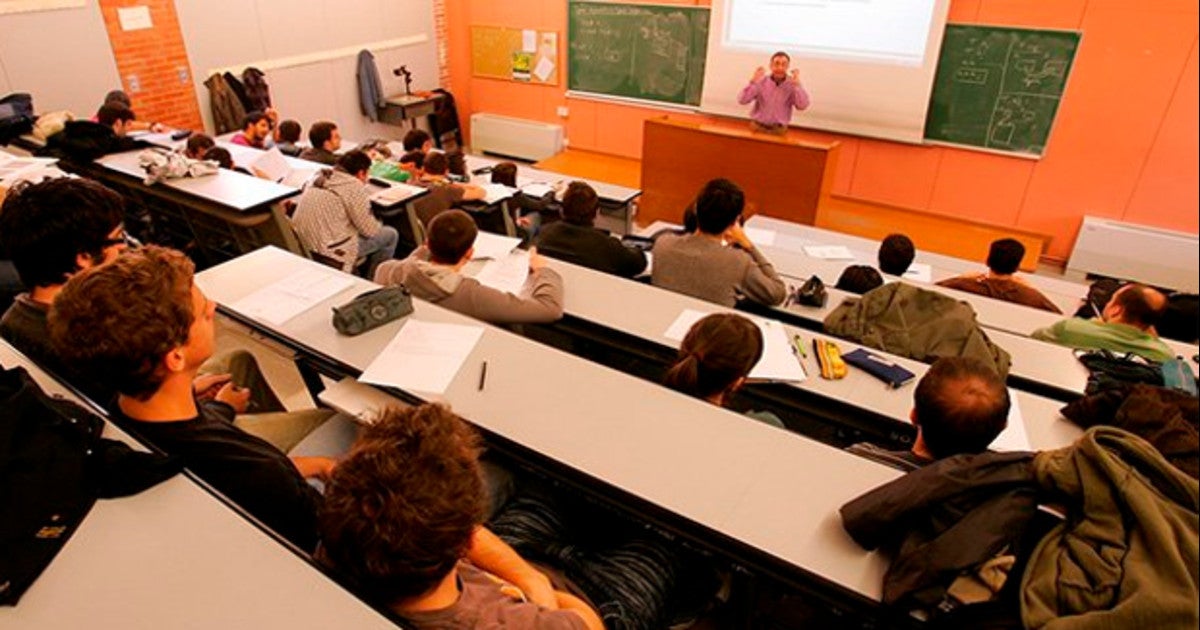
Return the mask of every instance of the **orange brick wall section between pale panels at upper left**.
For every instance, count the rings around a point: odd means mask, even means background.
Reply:
[[[149,7],[152,28],[121,30],[116,10],[134,6]],[[100,10],[122,88],[133,101],[138,120],[203,130],[174,0],[100,0]]]

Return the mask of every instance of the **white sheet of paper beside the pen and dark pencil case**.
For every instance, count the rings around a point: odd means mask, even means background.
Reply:
[[[445,394],[482,336],[482,326],[409,319],[359,380],[404,391]]]

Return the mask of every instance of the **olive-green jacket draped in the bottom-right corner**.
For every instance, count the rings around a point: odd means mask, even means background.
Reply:
[[[1043,492],[1068,509],[1030,558],[1021,618],[1034,630],[1195,630],[1198,482],[1120,428],[1038,455]]]

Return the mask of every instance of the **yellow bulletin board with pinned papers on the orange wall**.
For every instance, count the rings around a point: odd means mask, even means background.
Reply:
[[[506,26],[470,28],[475,77],[558,85],[558,34]]]

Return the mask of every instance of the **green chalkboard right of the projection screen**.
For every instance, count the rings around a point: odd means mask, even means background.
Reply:
[[[1079,37],[1075,31],[948,24],[925,139],[1042,155]]]

